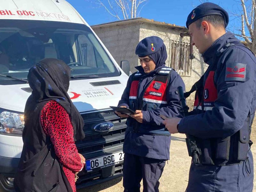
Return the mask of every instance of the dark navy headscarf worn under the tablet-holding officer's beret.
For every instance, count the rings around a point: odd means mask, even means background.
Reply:
[[[162,47],[155,53],[148,55],[148,57],[150,57],[151,59],[153,59],[153,61],[156,64],[156,69],[158,69],[159,67],[163,67],[165,66],[165,61],[167,59],[167,51],[166,51],[166,46],[163,44]]]

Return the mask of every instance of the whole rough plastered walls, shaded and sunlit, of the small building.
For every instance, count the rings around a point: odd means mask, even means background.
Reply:
[[[105,46],[108,48],[114,59],[120,65],[121,60],[130,62],[131,71],[137,71],[134,67],[140,65],[138,56],[135,55],[135,48],[139,41],[148,36],[159,36],[164,40],[167,53],[170,51],[170,40],[189,42],[189,37],[181,38],[179,34],[185,32],[179,29],[172,29],[168,26],[156,25],[152,23],[134,22],[130,24],[120,24],[106,27],[92,27]],[[207,69],[198,50],[194,49],[195,59],[192,61],[191,76],[181,76],[189,91],[192,85],[199,80]],[[166,66],[170,66],[170,58],[166,60]],[[189,100],[194,99],[195,93],[191,94]]]

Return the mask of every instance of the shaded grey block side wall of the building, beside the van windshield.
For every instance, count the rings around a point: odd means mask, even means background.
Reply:
[[[120,65],[122,60],[130,62],[131,71],[135,72],[137,66],[137,56],[135,48],[139,43],[138,23],[122,24],[92,29],[110,51],[115,61]]]

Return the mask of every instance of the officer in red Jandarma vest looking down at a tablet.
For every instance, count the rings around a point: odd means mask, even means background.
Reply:
[[[181,77],[165,66],[167,52],[161,38],[151,36],[139,42],[136,51],[141,66],[135,67],[118,106],[129,107],[137,115],[128,117],[123,151],[123,186],[126,192],[159,191],[159,179],[166,160],[170,159],[171,137],[160,114],[179,114],[179,98],[175,93],[184,86]]]

